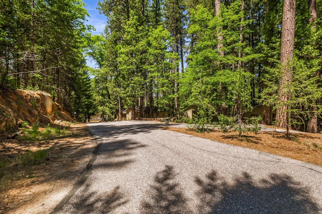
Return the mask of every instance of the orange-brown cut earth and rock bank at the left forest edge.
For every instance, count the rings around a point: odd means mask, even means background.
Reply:
[[[0,91],[0,132],[15,131],[22,121],[51,123],[54,120],[73,121],[70,112],[57,103],[52,96],[42,91]]]

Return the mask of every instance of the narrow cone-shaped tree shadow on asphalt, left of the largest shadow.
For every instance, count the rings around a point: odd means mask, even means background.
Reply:
[[[141,203],[142,213],[191,213],[175,175],[173,166],[169,165],[155,175],[151,191],[147,192],[150,199]]]

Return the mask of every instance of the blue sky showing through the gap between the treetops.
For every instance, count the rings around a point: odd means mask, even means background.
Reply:
[[[90,17],[87,17],[87,22],[85,24],[90,24],[95,27],[96,31],[92,31],[92,35],[101,34],[105,29],[106,17],[104,14],[99,14],[99,10],[97,8],[98,0],[83,0],[87,5],[85,7],[87,12],[90,14]],[[92,68],[97,68],[94,61],[90,59],[86,59],[86,65]]]

